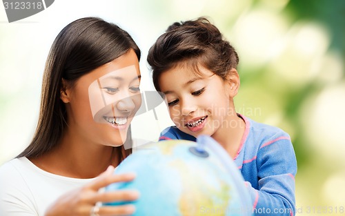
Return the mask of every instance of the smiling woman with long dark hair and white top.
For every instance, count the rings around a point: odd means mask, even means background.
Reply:
[[[123,144],[141,104],[140,55],[128,32],[102,19],[78,19],[61,30],[46,62],[34,137],[0,168],[0,215],[134,212],[131,205],[97,204],[138,197],[99,189],[134,179],[112,173],[130,154]]]

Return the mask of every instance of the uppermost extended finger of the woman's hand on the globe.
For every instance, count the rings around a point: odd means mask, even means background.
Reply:
[[[106,171],[108,173],[108,170]],[[108,186],[109,184],[120,182],[120,181],[132,181],[135,179],[135,173],[126,173],[126,174],[120,174],[120,175],[114,175],[114,174],[108,174],[108,175],[101,175],[99,178],[95,179],[89,184],[89,187],[92,190],[99,190],[100,188],[103,188],[105,186]]]

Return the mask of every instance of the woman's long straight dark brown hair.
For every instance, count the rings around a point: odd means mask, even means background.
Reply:
[[[67,126],[66,107],[60,99],[61,81],[74,85],[79,77],[108,63],[130,49],[140,60],[141,52],[128,32],[96,17],[68,24],[52,43],[43,74],[41,107],[34,137],[17,157],[39,157],[55,148]],[[130,130],[129,130],[130,132]],[[122,159],[130,154],[115,147]]]

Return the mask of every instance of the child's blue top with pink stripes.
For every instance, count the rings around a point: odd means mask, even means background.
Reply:
[[[295,215],[297,161],[290,136],[240,116],[246,130],[234,161],[245,179],[254,215]],[[161,132],[159,140],[164,139],[196,140],[176,126]]]

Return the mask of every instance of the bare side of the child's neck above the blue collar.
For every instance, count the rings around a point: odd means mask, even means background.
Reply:
[[[241,146],[245,130],[246,123],[242,117],[236,114],[229,115],[227,121],[224,121],[224,125],[221,126],[212,137],[223,146],[232,158],[235,158]]]

